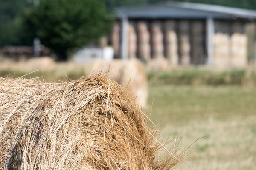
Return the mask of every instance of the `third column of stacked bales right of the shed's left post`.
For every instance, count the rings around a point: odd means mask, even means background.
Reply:
[[[163,58],[163,31],[160,21],[153,21],[151,24],[151,47],[153,58]]]

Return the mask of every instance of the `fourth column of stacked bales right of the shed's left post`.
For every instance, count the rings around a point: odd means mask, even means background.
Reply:
[[[165,22],[165,36],[166,57],[169,59],[173,66],[178,65],[178,44],[176,23],[174,20],[168,20]]]

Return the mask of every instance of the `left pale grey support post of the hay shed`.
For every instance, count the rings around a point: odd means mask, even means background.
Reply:
[[[121,37],[121,58],[128,59],[128,28],[129,21],[127,17],[122,17],[122,37]]]

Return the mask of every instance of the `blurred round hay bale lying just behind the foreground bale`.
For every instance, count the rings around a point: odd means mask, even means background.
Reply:
[[[111,62],[96,60],[90,74],[107,73],[109,78],[126,87],[134,102],[145,107],[148,99],[148,83],[144,65],[137,59],[115,59]]]

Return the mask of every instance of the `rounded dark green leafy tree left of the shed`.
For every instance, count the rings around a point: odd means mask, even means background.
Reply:
[[[27,40],[40,38],[66,60],[71,49],[98,42],[107,34],[113,17],[99,0],[41,0],[40,6],[24,12],[22,21]]]

